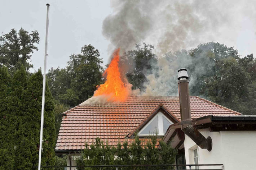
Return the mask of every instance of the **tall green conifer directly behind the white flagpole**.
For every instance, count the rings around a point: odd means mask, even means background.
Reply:
[[[38,164],[39,141],[40,141],[40,120],[43,91],[43,75],[41,70],[32,74],[28,80],[26,101],[27,114],[24,116],[22,131],[26,134],[28,143],[32,143],[30,149],[32,153],[31,163]],[[43,151],[41,165],[54,165],[55,147],[55,116],[54,102],[48,84],[45,87],[45,107],[44,107],[44,130],[43,130]],[[26,124],[25,124],[26,123]]]

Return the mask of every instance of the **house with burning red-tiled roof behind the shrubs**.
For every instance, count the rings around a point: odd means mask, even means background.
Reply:
[[[190,96],[190,101],[194,119],[207,115],[240,115],[197,96]],[[143,138],[154,132],[156,124],[159,135],[164,136],[169,125],[180,121],[180,105],[178,97],[131,96],[119,105],[76,106],[64,114],[55,152],[69,154],[68,165],[75,165],[75,156],[85,142],[91,144],[97,136],[107,139],[110,145],[116,145],[118,140],[132,142],[136,130]],[[179,149],[185,154],[184,144]]]

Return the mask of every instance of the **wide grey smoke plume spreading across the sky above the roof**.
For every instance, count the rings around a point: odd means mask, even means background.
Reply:
[[[104,20],[102,33],[111,42],[110,51],[120,47],[125,52],[143,41],[154,45],[159,58],[155,67],[159,69],[147,74],[149,81],[142,94],[177,95],[177,69],[192,61],[184,52],[176,51],[209,41],[234,46],[243,18],[256,18],[255,7],[255,2],[234,0],[114,0],[113,13]],[[213,63],[198,60],[195,64],[190,86]]]

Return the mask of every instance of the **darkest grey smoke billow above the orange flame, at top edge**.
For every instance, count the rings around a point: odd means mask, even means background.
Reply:
[[[150,10],[155,1],[112,1],[114,13],[103,21],[102,34],[111,42],[110,50],[121,48],[131,50],[136,43],[144,40],[154,24]]]

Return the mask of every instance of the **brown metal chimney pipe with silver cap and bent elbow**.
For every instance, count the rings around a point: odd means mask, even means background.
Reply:
[[[212,150],[212,139],[207,139],[192,125],[189,98],[189,76],[187,69],[178,70],[178,90],[180,96],[181,130],[200,148]]]

